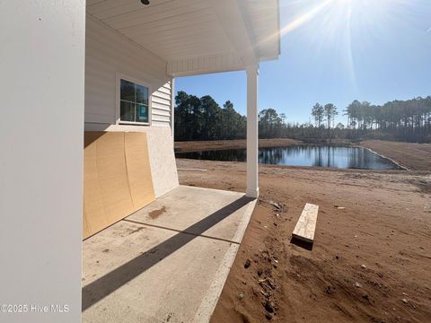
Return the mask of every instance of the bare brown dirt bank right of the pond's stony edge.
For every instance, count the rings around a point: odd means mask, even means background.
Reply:
[[[410,170],[431,170],[431,144],[366,140],[361,145],[399,162]]]

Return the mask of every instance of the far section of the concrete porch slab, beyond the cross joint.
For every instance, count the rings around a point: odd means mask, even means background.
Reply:
[[[244,212],[247,213],[246,209],[250,207],[248,201],[243,193],[180,186],[158,198],[151,205],[131,214],[128,220],[239,243],[250,220],[244,217]],[[226,213],[227,210],[222,210],[224,214],[214,215],[215,225],[210,225],[211,223],[194,225],[205,221],[208,214],[215,214],[221,210],[221,206],[230,208],[231,212]],[[226,214],[228,216],[222,218]]]

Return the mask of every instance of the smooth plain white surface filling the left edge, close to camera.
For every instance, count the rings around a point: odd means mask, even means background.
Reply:
[[[84,26],[84,0],[0,2],[0,322],[81,321]]]

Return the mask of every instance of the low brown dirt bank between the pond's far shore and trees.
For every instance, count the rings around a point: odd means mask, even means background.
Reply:
[[[300,144],[301,142],[295,139],[280,138],[280,139],[259,139],[259,147],[286,147],[292,144]],[[191,141],[191,142],[175,142],[175,150],[181,153],[221,150],[221,149],[241,149],[246,147],[245,139],[241,140],[218,140],[218,141]]]

